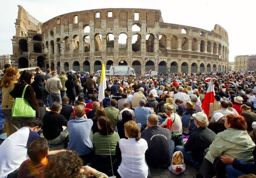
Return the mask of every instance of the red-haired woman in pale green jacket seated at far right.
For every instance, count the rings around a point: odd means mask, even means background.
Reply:
[[[214,176],[211,169],[213,161],[222,155],[230,155],[245,163],[254,163],[252,151],[255,144],[246,132],[245,118],[229,114],[226,116],[225,127],[227,130],[216,135],[200,167],[205,178]]]

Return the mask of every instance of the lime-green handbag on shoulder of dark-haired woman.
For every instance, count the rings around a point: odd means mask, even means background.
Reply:
[[[25,86],[21,98],[15,98],[12,106],[12,117],[14,118],[33,118],[36,117],[36,111],[24,99],[24,94],[28,85]]]

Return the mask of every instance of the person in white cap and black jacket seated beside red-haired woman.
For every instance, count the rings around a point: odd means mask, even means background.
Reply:
[[[216,134],[207,128],[209,123],[205,113],[198,112],[192,116],[195,117],[194,122],[197,129],[190,134],[184,146],[176,146],[175,151],[181,151],[184,160],[199,169],[204,159],[204,150],[209,148]]]

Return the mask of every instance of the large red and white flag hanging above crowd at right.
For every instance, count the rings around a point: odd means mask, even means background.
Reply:
[[[209,118],[209,109],[210,109],[210,103],[214,103],[214,85],[212,79],[210,79],[210,83],[207,89],[207,92],[204,97],[204,101],[202,103],[202,109],[204,110],[205,114]]]

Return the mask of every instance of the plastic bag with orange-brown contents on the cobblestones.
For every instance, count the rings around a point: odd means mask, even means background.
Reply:
[[[177,164],[176,164],[177,163]],[[180,174],[186,170],[186,165],[184,163],[184,157],[181,151],[175,151],[172,156],[171,165],[168,169],[173,174]]]

